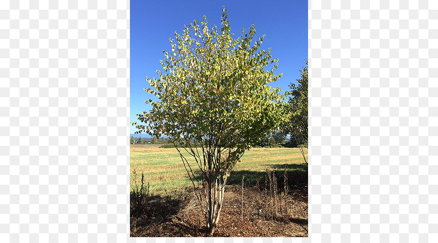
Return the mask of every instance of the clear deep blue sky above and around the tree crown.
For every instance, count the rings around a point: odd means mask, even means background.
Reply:
[[[155,96],[143,88],[150,87],[146,76],[158,77],[164,60],[163,50],[170,50],[169,37],[175,31],[183,32],[184,24],[194,19],[200,23],[207,17],[209,28],[218,26],[222,6],[228,9],[228,20],[234,37],[252,24],[255,40],[266,35],[261,50],[272,48],[272,58],[278,58],[276,74],[283,76],[272,87],[281,87],[281,93],[290,90],[300,78],[298,69],[308,59],[308,1],[307,0],[131,0],[130,1],[130,121],[137,121],[136,113],[149,111],[145,100],[156,101]],[[200,24],[201,25],[201,24]],[[163,70],[164,72],[164,70]],[[130,126],[130,133],[135,127]]]

